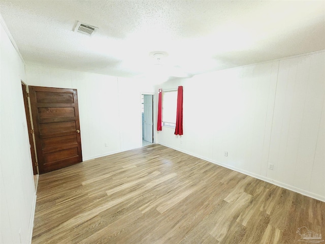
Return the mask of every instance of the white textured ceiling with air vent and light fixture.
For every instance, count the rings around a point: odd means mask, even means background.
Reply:
[[[0,0],[26,64],[180,77],[325,49],[325,1]],[[73,32],[77,21],[98,27]],[[153,52],[167,53],[154,65]]]

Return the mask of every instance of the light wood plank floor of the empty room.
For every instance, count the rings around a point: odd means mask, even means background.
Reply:
[[[324,202],[151,145],[40,175],[32,243],[306,243],[324,222]]]

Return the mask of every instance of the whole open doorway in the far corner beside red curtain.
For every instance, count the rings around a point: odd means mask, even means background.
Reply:
[[[142,146],[153,143],[153,95],[141,95]]]

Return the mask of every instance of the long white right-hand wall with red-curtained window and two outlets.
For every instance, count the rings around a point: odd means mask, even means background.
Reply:
[[[163,83],[183,85],[184,135],[158,143],[325,201],[324,67],[318,52]]]

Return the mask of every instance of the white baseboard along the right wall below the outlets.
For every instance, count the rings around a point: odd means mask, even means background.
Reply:
[[[309,192],[309,191],[306,191],[306,190],[303,190],[303,189],[300,189],[300,188],[297,188],[297,187],[294,187],[294,186],[291,186],[291,185],[287,185],[287,184],[285,184],[283,182],[280,182],[280,181],[277,181],[277,180],[274,180],[274,179],[271,179],[271,178],[268,178],[268,177],[265,177],[265,176],[262,176],[262,175],[258,175],[258,174],[255,174],[255,173],[243,170],[243,169],[239,169],[237,167],[233,167],[233,166],[230,166],[230,165],[227,165],[227,164],[223,164],[223,163],[220,163],[218,161],[214,161],[214,160],[202,157],[200,155],[192,154],[189,151],[186,151],[186,150],[183,150],[183,149],[180,149],[180,148],[172,147],[172,146],[169,146],[169,145],[166,145],[166,144],[163,144],[163,143],[158,143],[158,144],[163,145],[163,146],[167,146],[167,147],[175,149],[177,151],[181,151],[184,154],[188,154],[190,156],[206,160],[206,161],[208,161],[210,163],[213,163],[213,164],[216,164],[216,165],[219,165],[219,166],[231,169],[231,170],[235,170],[237,172],[249,175],[249,176],[254,177],[256,179],[261,179],[261,180],[269,182],[269,183],[271,183],[271,184],[273,184],[275,186],[282,187],[284,189],[300,193],[300,194],[302,194],[304,196],[311,197],[311,198],[314,198],[316,200],[325,202],[325,197],[324,196],[321,196],[321,195],[318,195],[318,194],[315,194],[315,193],[312,193],[312,192]]]

